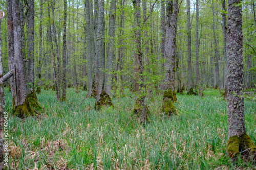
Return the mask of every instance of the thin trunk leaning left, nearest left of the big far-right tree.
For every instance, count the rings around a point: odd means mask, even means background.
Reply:
[[[215,41],[215,72],[216,72],[216,85],[219,86],[219,90],[221,93],[221,83],[220,83],[220,66],[219,66],[219,60],[220,60],[220,53],[218,49],[218,43],[216,39],[216,33],[215,33],[215,16],[214,16],[214,2],[212,1],[212,22],[213,22],[213,31],[214,31],[214,41]]]

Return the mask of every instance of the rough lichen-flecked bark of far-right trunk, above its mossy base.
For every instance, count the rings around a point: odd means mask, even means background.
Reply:
[[[240,0],[228,1],[227,18],[227,50],[228,50],[228,138],[243,135],[245,131],[244,99],[242,90],[244,86],[243,70],[243,34],[242,9]]]

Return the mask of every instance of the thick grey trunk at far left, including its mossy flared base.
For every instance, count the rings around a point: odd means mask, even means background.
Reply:
[[[13,42],[14,42],[14,83],[16,94],[13,98],[12,113],[19,117],[34,115],[31,108],[27,91],[26,91],[26,75],[25,63],[23,59],[22,49],[22,23],[20,21],[19,0],[12,0],[12,23],[13,23]],[[13,89],[11,91],[14,91]]]

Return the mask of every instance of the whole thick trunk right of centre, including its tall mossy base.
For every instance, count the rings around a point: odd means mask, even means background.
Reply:
[[[167,114],[176,114],[173,102],[177,101],[175,91],[175,53],[176,53],[176,33],[178,22],[178,0],[166,1],[166,23],[165,23],[165,84],[166,89],[163,94],[162,111]]]

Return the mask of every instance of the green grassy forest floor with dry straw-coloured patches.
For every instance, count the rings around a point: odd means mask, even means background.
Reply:
[[[126,91],[127,92],[127,91]],[[127,92],[129,93],[129,92]],[[12,107],[5,89],[6,111]],[[204,97],[177,95],[179,115],[160,112],[161,96],[150,102],[150,124],[143,129],[133,115],[134,97],[113,100],[114,108],[95,111],[85,91],[37,94],[40,117],[9,114],[9,169],[255,169],[230,162],[226,154],[227,107],[218,90]],[[81,104],[81,105],[80,105]],[[256,104],[245,101],[247,134],[256,143]]]

